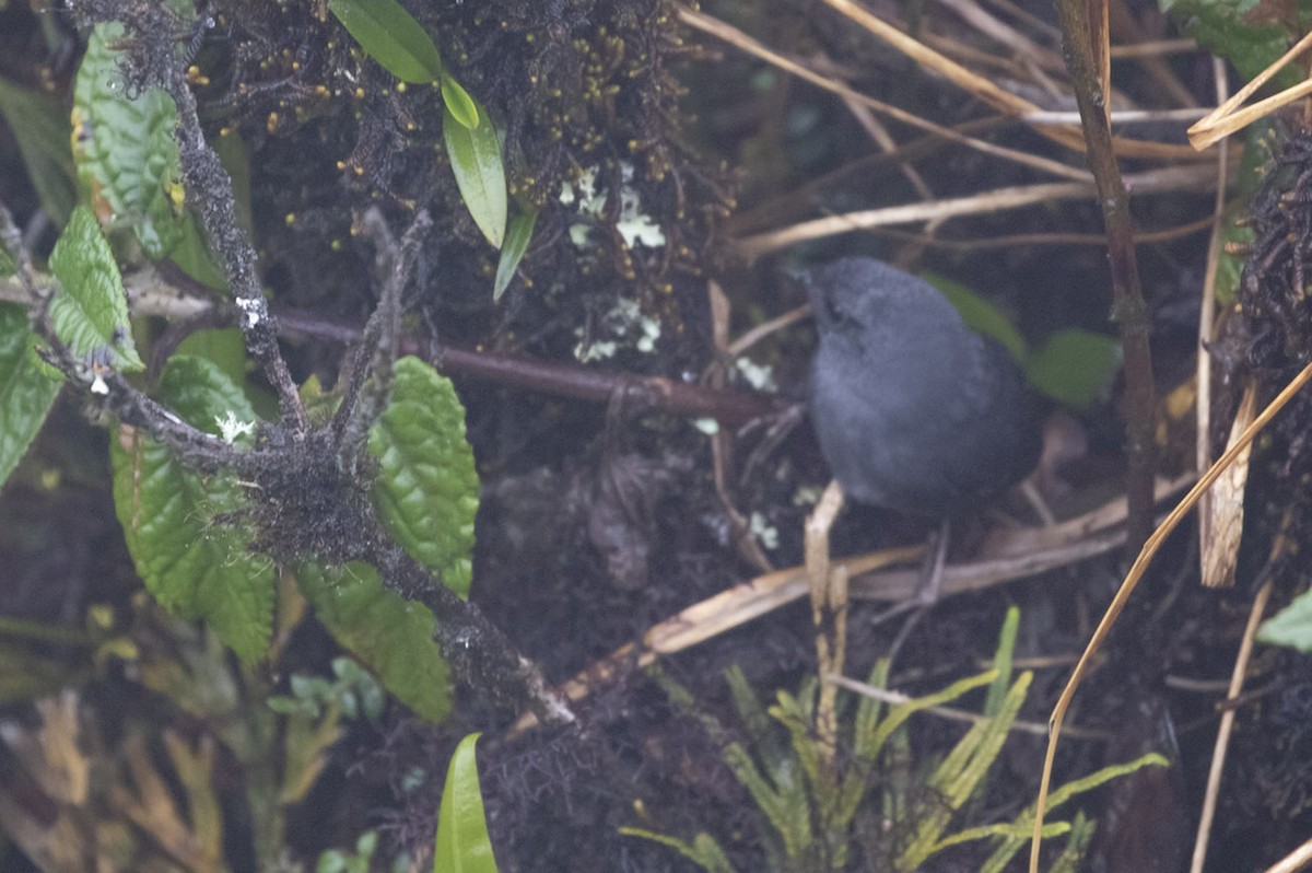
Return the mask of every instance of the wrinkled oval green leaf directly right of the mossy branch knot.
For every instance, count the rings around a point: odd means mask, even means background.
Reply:
[[[382,467],[373,496],[383,526],[442,584],[468,595],[479,477],[451,381],[417,357],[396,361],[369,452]]]

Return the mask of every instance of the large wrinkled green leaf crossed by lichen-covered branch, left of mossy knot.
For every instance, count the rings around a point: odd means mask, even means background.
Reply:
[[[159,399],[193,427],[218,435],[231,416],[253,421],[245,394],[219,368],[174,354]],[[147,591],[164,607],[209,622],[245,660],[264,656],[273,626],[273,563],[249,551],[243,486],[202,477],[131,428],[110,441],[114,509]]]

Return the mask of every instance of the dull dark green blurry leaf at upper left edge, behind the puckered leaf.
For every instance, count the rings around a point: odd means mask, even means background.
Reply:
[[[0,116],[13,131],[41,206],[63,227],[77,205],[68,114],[45,95],[0,79]]]

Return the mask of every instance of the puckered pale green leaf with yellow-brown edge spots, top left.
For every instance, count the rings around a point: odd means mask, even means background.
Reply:
[[[118,22],[96,25],[73,83],[73,163],[96,214],[133,228],[152,259],[167,256],[185,223],[173,127],[177,108],[160,88],[129,100],[118,68]]]

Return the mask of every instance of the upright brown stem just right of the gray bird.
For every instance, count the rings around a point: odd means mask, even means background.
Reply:
[[[1094,54],[1094,29],[1089,20],[1093,3],[1059,0],[1057,14],[1065,46],[1067,70],[1075,87],[1084,122],[1089,169],[1093,171],[1107,230],[1107,257],[1111,264],[1114,303],[1111,320],[1120,328],[1126,370],[1126,453],[1128,496],[1126,545],[1136,551],[1153,529],[1153,431],[1156,391],[1152,381],[1152,351],[1148,345],[1148,307],[1139,286],[1135,260],[1130,196],[1111,146],[1111,126],[1106,113],[1099,66]]]

